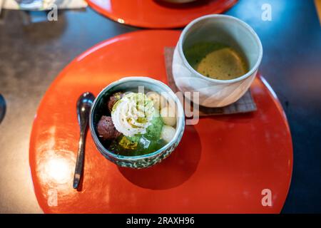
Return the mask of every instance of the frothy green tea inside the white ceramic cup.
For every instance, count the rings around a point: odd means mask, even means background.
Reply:
[[[249,71],[243,54],[223,43],[195,43],[183,52],[190,66],[208,78],[231,80]]]

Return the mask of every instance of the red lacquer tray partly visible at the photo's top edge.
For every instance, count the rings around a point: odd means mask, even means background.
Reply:
[[[220,14],[238,0],[198,0],[164,4],[161,0],[86,0],[93,9],[114,21],[145,28],[178,28],[206,14]]]

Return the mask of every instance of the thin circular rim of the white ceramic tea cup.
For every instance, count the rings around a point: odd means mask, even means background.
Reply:
[[[187,59],[185,58],[185,55],[183,53],[183,39],[185,38],[185,34],[189,31],[190,27],[194,26],[196,23],[198,23],[199,21],[202,21],[204,19],[215,19],[215,18],[224,18],[224,19],[230,19],[233,21],[236,21],[238,24],[240,24],[240,26],[243,26],[244,28],[248,29],[248,31],[250,31],[250,33],[253,35],[253,37],[255,38],[256,43],[259,46],[259,56],[258,56],[258,60],[256,61],[255,65],[253,66],[253,68],[250,69],[250,71],[248,71],[247,73],[245,73],[245,75],[240,76],[238,78],[234,78],[234,79],[230,79],[230,80],[219,80],[219,79],[214,79],[214,78],[208,78],[206,76],[203,76],[201,73],[198,73],[198,71],[195,71],[195,69],[190,66],[190,63],[188,63]],[[203,78],[207,81],[210,82],[214,82],[214,83],[235,83],[238,81],[243,81],[245,78],[248,78],[249,76],[253,75],[253,73],[255,73],[255,71],[258,70],[258,67],[260,66],[260,63],[262,61],[262,57],[263,57],[263,46],[262,43],[260,41],[260,38],[258,37],[258,34],[255,33],[254,29],[249,26],[247,23],[245,23],[244,21],[234,17],[234,16],[228,16],[228,15],[223,15],[223,14],[209,14],[209,15],[205,15],[205,16],[201,16],[198,19],[195,19],[193,21],[190,22],[190,24],[188,24],[182,31],[182,33],[180,34],[180,38],[178,40],[178,53],[180,54],[183,63],[185,64],[185,66],[192,71],[193,73],[195,73],[195,75],[199,76],[200,78]]]

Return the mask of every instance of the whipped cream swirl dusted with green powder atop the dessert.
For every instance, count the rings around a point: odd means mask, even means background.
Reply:
[[[128,93],[113,105],[111,119],[120,133],[133,136],[146,133],[154,113],[153,101],[144,93]]]

